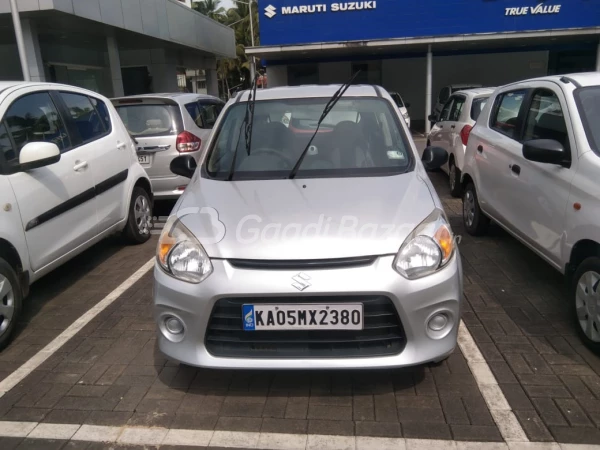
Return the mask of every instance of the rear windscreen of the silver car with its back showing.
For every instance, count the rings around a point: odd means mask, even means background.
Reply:
[[[173,108],[170,105],[118,105],[117,112],[133,137],[168,136],[176,133]]]

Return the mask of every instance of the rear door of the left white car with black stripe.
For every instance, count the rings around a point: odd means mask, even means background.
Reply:
[[[123,219],[133,144],[103,100],[78,91],[62,90],[57,95],[73,128],[75,164],[86,166],[94,182],[98,230],[102,232]]]

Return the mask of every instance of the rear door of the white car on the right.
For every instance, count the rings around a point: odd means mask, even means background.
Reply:
[[[481,128],[477,126],[477,139],[473,143],[479,203],[488,215],[507,224],[513,216],[515,192],[512,188],[514,173],[509,165],[522,151],[519,129],[527,93],[525,88],[500,92],[494,99],[488,123],[482,124]]]

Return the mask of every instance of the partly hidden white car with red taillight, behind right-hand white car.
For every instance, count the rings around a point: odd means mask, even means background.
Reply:
[[[448,164],[444,165],[443,170],[449,176],[450,193],[454,197],[461,195],[460,175],[469,134],[493,92],[494,88],[455,92],[429,133],[427,146],[441,147],[448,152]]]

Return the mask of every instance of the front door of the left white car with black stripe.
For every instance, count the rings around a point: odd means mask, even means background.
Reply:
[[[29,249],[38,271],[97,234],[94,181],[77,152],[60,108],[49,91],[18,90],[0,105],[12,148],[4,151],[8,180],[17,199]],[[27,172],[19,153],[30,142],[56,144],[61,159]]]

